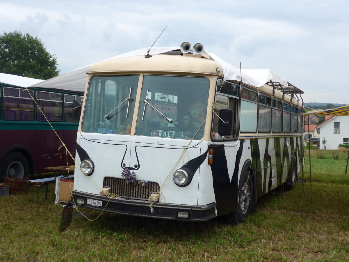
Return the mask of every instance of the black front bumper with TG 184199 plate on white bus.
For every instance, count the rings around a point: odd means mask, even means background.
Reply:
[[[86,192],[72,191],[73,200],[70,203],[95,210],[125,214],[139,217],[172,219],[180,221],[207,221],[216,217],[216,203],[203,206],[162,204],[159,202],[149,202],[147,200],[110,198],[101,195],[89,194]],[[84,204],[78,204],[77,198],[84,199]],[[102,206],[87,204],[87,198],[102,201]],[[153,213],[151,213],[151,207]],[[178,212],[187,212],[188,218],[178,218]]]

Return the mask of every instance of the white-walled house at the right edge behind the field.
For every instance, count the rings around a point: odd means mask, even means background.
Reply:
[[[324,138],[327,140],[326,149],[338,149],[339,144],[349,144],[349,116],[326,116],[325,122],[317,129],[320,132],[320,149],[324,149]]]

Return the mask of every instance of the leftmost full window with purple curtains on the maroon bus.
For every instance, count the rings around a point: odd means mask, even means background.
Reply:
[[[5,120],[34,121],[34,101],[16,97],[3,97]]]

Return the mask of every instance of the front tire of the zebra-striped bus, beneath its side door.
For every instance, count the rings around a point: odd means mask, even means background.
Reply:
[[[225,214],[223,220],[226,223],[237,225],[244,222],[248,214],[250,214],[252,202],[254,201],[252,192],[252,176],[250,175],[250,171],[246,169],[239,182],[238,211]]]

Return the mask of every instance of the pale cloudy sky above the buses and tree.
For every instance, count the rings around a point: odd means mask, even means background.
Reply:
[[[202,43],[233,66],[270,69],[305,102],[349,104],[348,0],[0,0],[0,34],[38,36],[60,73],[154,46]]]

